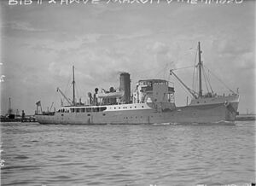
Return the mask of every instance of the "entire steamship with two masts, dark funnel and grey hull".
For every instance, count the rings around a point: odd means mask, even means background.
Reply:
[[[35,117],[40,124],[63,125],[232,123],[238,114],[239,94],[232,90],[228,96],[219,96],[213,91],[203,94],[200,42],[197,53],[198,91],[190,89],[170,70],[170,75],[177,78],[192,97],[186,106],[176,106],[174,86],[165,79],[139,80],[131,93],[130,73],[120,73],[119,89],[111,87],[99,92],[96,88],[94,94],[88,93],[88,102],[76,102],[73,67],[73,100],[58,88],[67,105],[58,111],[43,112],[41,102],[37,102]]]

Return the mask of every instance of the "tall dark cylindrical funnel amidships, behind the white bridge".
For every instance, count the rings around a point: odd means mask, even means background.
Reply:
[[[131,79],[130,73],[121,73],[120,74],[120,85],[119,90],[125,91],[125,95],[121,98],[122,102],[130,103],[131,102]]]

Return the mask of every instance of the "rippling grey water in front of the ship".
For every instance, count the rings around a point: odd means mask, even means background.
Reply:
[[[1,124],[2,185],[255,182],[255,125]]]

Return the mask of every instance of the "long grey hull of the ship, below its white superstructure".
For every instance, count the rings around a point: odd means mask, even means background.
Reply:
[[[233,122],[236,119],[238,102],[191,105],[159,112],[157,109],[121,110],[98,113],[38,114],[40,124],[160,124],[160,123],[216,123]]]

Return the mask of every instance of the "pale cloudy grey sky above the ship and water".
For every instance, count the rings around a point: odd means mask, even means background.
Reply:
[[[183,106],[189,94],[169,71],[182,68],[175,73],[192,87],[193,68],[183,67],[194,66],[199,41],[204,66],[218,77],[209,76],[212,89],[239,88],[238,111],[255,113],[255,1],[9,1],[0,3],[1,114],[9,97],[20,113],[33,114],[38,101],[44,110],[60,107],[56,88],[72,98],[73,65],[82,102],[96,87],[118,88],[119,73],[127,72],[131,90],[140,79],[173,82]]]

